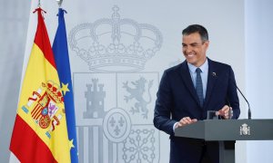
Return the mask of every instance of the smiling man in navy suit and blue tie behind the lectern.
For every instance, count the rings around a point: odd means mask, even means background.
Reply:
[[[206,120],[207,110],[216,110],[223,120],[238,119],[234,72],[229,65],[207,58],[206,28],[193,24],[182,34],[186,61],[164,72],[157,91],[154,125],[170,135],[171,163],[217,163],[217,141],[175,137],[174,130]],[[232,117],[229,110],[233,110]]]

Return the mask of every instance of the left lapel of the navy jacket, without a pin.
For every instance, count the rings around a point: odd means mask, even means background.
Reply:
[[[191,96],[195,99],[195,101],[197,101],[197,103],[199,104],[199,100],[197,97],[197,91],[193,85],[193,82],[191,80],[190,74],[188,72],[188,67],[187,67],[187,62],[182,62],[181,64],[181,68],[179,70],[179,74],[183,79],[183,82],[185,83],[187,90],[190,92]]]

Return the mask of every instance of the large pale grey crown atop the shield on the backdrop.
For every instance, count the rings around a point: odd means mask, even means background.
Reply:
[[[112,9],[111,18],[73,28],[69,34],[70,47],[88,63],[91,71],[141,71],[160,50],[162,34],[154,25],[121,19],[116,5]]]

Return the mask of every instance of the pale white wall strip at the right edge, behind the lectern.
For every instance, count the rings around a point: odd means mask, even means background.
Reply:
[[[246,0],[246,88],[252,119],[272,119],[273,1]],[[273,160],[273,141],[248,141],[248,163]]]

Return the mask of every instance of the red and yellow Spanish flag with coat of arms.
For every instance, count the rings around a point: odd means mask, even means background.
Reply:
[[[10,150],[21,162],[71,162],[64,97],[43,10],[22,84]]]

